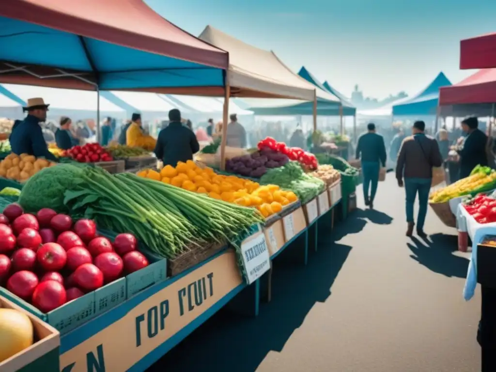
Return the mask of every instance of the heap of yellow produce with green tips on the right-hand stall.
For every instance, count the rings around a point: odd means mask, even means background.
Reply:
[[[431,203],[444,203],[459,196],[476,195],[494,188],[496,188],[496,172],[489,167],[478,165],[470,176],[435,190],[430,195],[429,201]]]

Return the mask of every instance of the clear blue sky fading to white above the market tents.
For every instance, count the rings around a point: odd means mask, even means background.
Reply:
[[[460,39],[496,32],[496,0],[145,0],[193,35],[210,24],[305,65],[346,95],[415,94],[443,71],[457,82]]]

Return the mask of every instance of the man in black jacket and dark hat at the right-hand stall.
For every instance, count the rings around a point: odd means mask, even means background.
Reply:
[[[477,165],[488,165],[488,136],[478,126],[479,120],[473,116],[462,121],[462,130],[467,133],[467,137],[463,146],[457,150],[460,155],[460,179],[470,176]]]

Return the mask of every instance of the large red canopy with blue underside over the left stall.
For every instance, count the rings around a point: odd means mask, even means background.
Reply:
[[[85,90],[95,90],[93,83],[102,90],[222,87],[228,59],[142,0],[0,6],[1,82]]]

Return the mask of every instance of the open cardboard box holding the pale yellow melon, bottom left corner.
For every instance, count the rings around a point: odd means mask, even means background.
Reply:
[[[33,323],[35,343],[0,363],[1,372],[59,372],[60,333],[33,314],[0,296],[0,307],[25,313]]]

